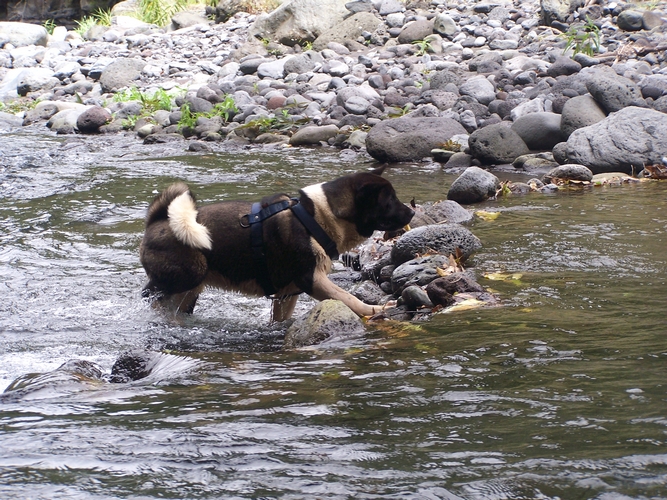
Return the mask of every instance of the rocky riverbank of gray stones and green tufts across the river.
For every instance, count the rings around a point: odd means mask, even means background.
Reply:
[[[260,16],[230,3],[224,22],[184,12],[170,29],[121,3],[83,38],[0,23],[0,99],[38,101],[0,126],[328,143],[457,168],[636,174],[667,155],[664,3],[329,0],[313,12],[291,0]]]

